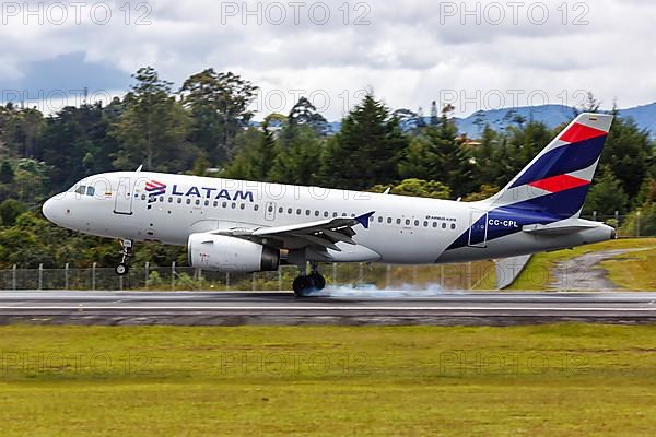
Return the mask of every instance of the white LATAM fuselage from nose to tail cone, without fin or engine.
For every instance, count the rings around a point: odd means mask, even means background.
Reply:
[[[488,211],[484,201],[467,203],[148,172],[91,176],[44,205],[48,220],[73,231],[180,246],[196,233],[284,226],[374,212],[370,226],[359,226],[353,240],[377,253],[376,261],[399,264],[512,257],[612,236],[612,229],[602,224],[566,235],[534,235],[522,232],[522,222],[512,215],[490,216],[483,221],[482,238],[446,250],[471,233],[472,225],[487,217]],[[503,228],[513,233],[485,238],[488,232]]]

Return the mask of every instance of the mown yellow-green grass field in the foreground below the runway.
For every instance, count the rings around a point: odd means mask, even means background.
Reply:
[[[656,327],[0,328],[3,436],[640,436]]]

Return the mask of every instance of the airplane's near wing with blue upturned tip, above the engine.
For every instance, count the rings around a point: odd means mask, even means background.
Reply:
[[[288,249],[296,249],[311,246],[319,250],[332,249],[340,252],[337,244],[345,243],[355,245],[352,237],[353,229],[358,225],[368,228],[370,212],[356,217],[335,217],[317,222],[298,223],[285,226],[258,227],[254,229],[218,229],[212,234],[226,235],[231,237],[248,238],[254,240],[277,240],[280,246]]]

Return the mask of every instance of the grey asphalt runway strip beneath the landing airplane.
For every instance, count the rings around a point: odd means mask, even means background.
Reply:
[[[656,293],[0,292],[0,323],[466,324],[656,322]]]

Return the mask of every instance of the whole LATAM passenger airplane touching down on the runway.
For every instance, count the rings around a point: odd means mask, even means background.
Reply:
[[[476,202],[143,172],[86,177],[48,199],[44,215],[121,240],[187,246],[208,271],[296,265],[292,288],[323,290],[326,262],[435,264],[572,248],[616,237],[579,217],[612,122],[581,114],[495,196]],[[308,272],[309,267],[309,272]]]

